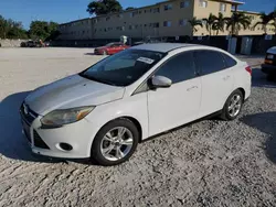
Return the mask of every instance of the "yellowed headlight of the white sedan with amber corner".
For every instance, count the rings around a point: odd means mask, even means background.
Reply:
[[[78,107],[73,109],[57,109],[45,115],[41,123],[46,127],[61,127],[85,118],[95,107]]]

